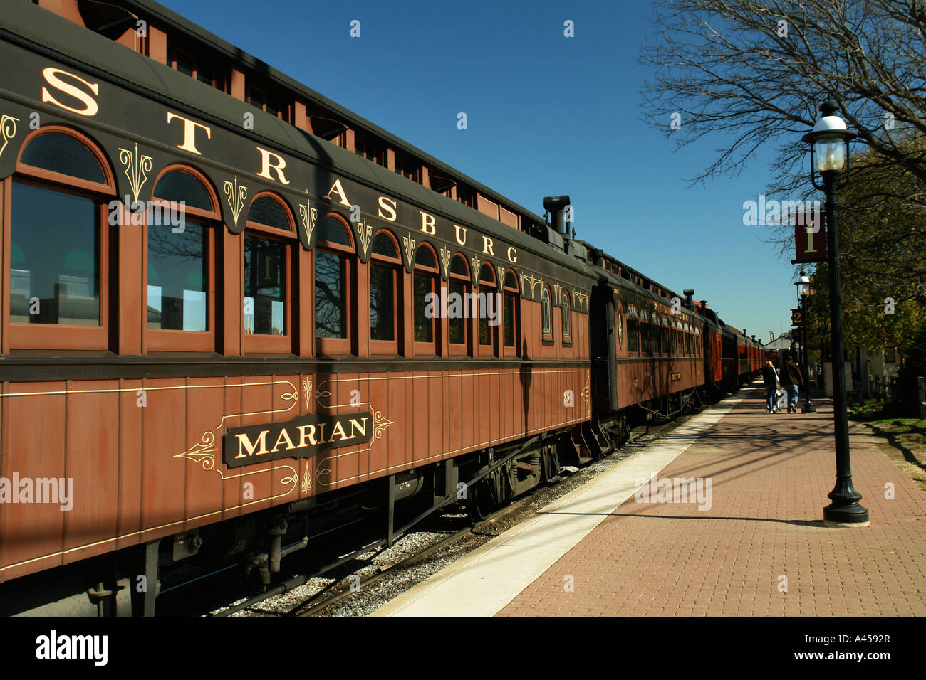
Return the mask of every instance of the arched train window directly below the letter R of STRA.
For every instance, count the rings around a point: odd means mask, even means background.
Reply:
[[[264,192],[251,201],[244,224],[244,351],[291,352],[293,216]]]

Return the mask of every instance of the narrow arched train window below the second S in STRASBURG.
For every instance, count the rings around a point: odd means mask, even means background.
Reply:
[[[373,237],[369,261],[369,351],[371,353],[398,353],[398,319],[402,318],[398,300],[399,259],[398,244],[387,230]]]

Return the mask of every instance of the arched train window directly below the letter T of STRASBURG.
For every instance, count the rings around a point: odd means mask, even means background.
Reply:
[[[148,350],[215,349],[215,228],[218,204],[190,167],[167,167],[147,211],[145,315]],[[186,331],[186,332],[184,332]]]

